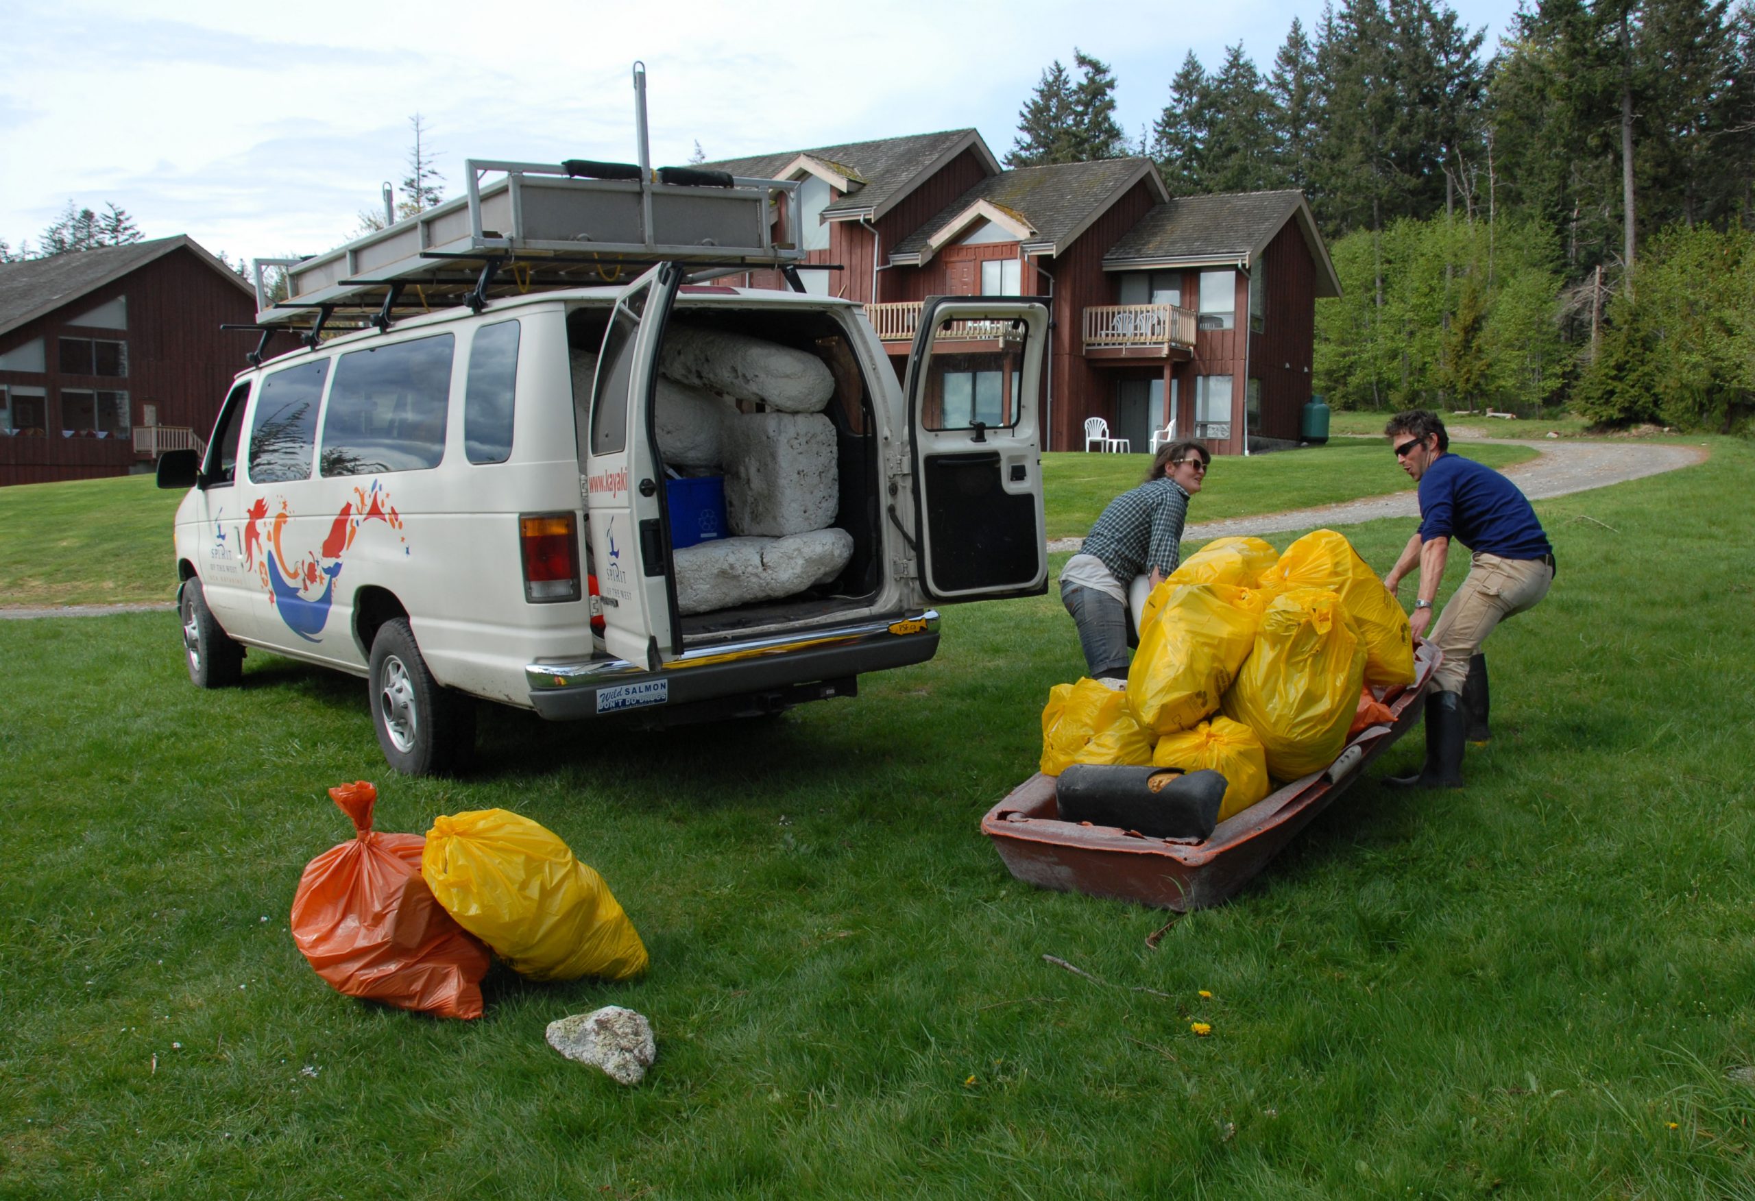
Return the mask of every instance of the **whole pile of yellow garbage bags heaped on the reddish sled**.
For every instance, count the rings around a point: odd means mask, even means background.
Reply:
[[[1316,530],[1283,555],[1221,537],[1146,599],[1125,692],[1095,680],[1049,692],[1042,771],[1211,767],[1228,783],[1225,820],[1271,778],[1334,762],[1362,687],[1413,681],[1408,615],[1341,534]]]

